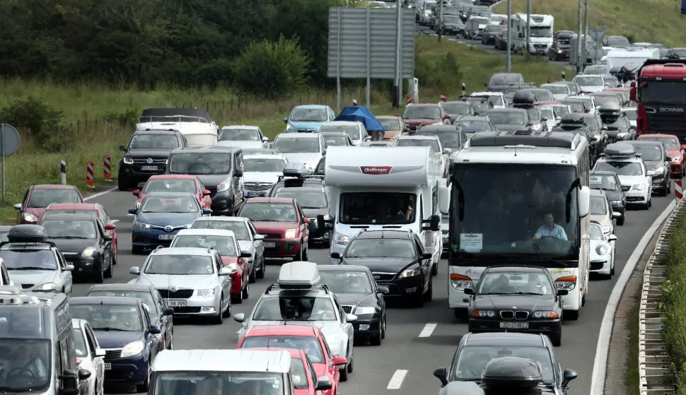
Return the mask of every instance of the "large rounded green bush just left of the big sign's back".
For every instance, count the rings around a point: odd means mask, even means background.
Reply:
[[[303,88],[310,58],[297,37],[277,42],[252,42],[234,66],[235,82],[241,90],[264,98],[277,98]]]

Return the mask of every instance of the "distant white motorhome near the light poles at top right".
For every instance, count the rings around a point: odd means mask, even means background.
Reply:
[[[529,20],[530,47],[526,48],[526,14],[512,15],[512,42],[516,52],[529,52],[536,55],[547,55],[552,46],[554,18],[552,15],[531,14]]]

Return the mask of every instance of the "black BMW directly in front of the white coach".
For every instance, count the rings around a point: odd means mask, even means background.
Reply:
[[[489,266],[470,297],[469,331],[542,333],[562,343],[562,296],[540,266]],[[516,307],[515,307],[516,306]]]

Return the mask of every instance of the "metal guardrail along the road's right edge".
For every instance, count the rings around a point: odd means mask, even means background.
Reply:
[[[639,380],[641,395],[673,395],[675,387],[670,377],[670,360],[662,340],[662,313],[657,304],[663,301],[665,281],[664,257],[669,241],[682,216],[686,201],[678,201],[662,228],[657,244],[648,259],[643,275],[643,290],[639,310]]]

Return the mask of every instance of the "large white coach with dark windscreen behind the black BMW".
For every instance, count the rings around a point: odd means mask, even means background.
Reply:
[[[462,317],[465,288],[491,265],[550,271],[564,319],[588,294],[588,141],[550,131],[477,133],[455,155],[448,235],[448,307]]]

